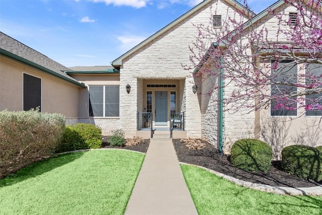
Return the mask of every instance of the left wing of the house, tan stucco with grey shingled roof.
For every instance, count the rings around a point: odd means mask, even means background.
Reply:
[[[0,110],[39,107],[43,112],[78,117],[78,91],[86,86],[64,70],[69,69],[0,33]]]

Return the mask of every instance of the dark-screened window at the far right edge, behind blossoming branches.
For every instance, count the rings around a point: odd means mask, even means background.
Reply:
[[[322,65],[321,64],[309,64],[305,69],[306,84],[313,82],[322,82]],[[312,80],[310,76],[317,78]],[[322,86],[320,86],[322,87]],[[314,92],[314,89],[312,89]],[[322,116],[322,110],[318,110],[317,106],[322,105],[322,93],[306,95],[305,96],[306,105],[310,105],[310,109],[305,112],[305,116]],[[312,107],[313,106],[313,107]]]

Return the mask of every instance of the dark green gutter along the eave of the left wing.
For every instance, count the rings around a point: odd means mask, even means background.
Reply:
[[[38,69],[41,69],[41,70],[45,71],[46,73],[49,73],[50,75],[56,76],[56,77],[58,77],[60,79],[63,79],[65,81],[69,82],[69,83],[77,85],[78,87],[87,88],[84,83],[79,83],[79,82],[74,81],[72,79],[68,79],[67,77],[62,76],[62,75],[56,73],[53,70],[50,70],[50,69],[48,69],[48,68],[46,68],[44,66],[41,66],[41,65],[39,65],[37,63],[34,63],[34,62],[30,61],[30,60],[27,60],[27,59],[25,59],[23,57],[20,57],[20,56],[16,55],[16,54],[13,54],[13,53],[11,53],[9,51],[6,51],[5,49],[0,48],[0,53],[6,55],[8,57],[14,58],[16,60],[19,60],[21,62],[24,62],[24,63],[26,63],[28,65],[33,66],[33,67],[36,67]]]

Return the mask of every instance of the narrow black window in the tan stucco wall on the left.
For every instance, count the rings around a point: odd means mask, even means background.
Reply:
[[[41,111],[41,79],[24,74],[24,110],[36,109]]]

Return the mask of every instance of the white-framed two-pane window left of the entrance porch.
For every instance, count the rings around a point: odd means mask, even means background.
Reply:
[[[90,116],[120,116],[119,86],[89,86]]]

